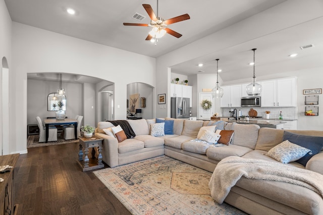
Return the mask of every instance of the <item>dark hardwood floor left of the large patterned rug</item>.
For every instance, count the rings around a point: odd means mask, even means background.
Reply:
[[[92,171],[82,172],[78,149],[74,143],[20,155],[15,168],[19,214],[131,214]]]

